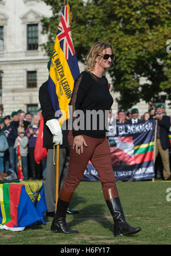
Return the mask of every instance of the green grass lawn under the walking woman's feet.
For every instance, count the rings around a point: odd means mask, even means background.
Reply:
[[[170,245],[171,201],[166,189],[171,182],[117,182],[127,222],[140,226],[141,232],[131,237],[113,237],[113,220],[100,182],[80,182],[70,208],[79,214],[67,215],[67,223],[79,234],[54,234],[52,217],[44,217],[46,225],[31,225],[24,231],[0,230],[1,245]],[[171,196],[170,196],[171,198]]]

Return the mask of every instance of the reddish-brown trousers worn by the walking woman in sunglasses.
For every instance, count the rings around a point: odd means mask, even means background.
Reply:
[[[107,137],[103,139],[85,135],[83,135],[83,137],[86,140],[88,147],[83,146],[84,152],[78,155],[75,148],[72,148],[74,142],[72,131],[68,134],[68,142],[70,145],[70,164],[62,190],[66,190],[71,194],[74,192],[82,180],[84,171],[86,170],[88,161],[90,160],[99,174],[99,180],[101,181],[105,200],[109,200],[109,197],[119,197]],[[59,194],[59,197],[62,199],[62,193]]]

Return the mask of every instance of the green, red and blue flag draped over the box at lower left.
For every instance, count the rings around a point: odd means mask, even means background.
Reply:
[[[0,228],[22,231],[37,221],[45,224],[44,182],[0,184]]]

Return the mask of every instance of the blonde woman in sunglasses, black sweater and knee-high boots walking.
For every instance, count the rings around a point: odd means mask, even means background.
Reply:
[[[73,128],[68,134],[70,164],[66,180],[59,192],[57,210],[51,224],[54,233],[78,233],[78,230],[72,230],[67,225],[66,213],[72,194],[82,180],[89,160],[99,174],[104,199],[114,220],[114,235],[132,235],[141,230],[140,227],[132,227],[125,221],[106,136],[105,122],[108,120],[113,98],[109,92],[108,80],[103,73],[111,67],[114,57],[110,44],[96,42],[88,52],[85,70],[75,80],[70,101]],[[76,119],[75,111],[83,113],[84,125],[80,125],[82,119]],[[89,111],[98,112],[99,115],[88,116]]]

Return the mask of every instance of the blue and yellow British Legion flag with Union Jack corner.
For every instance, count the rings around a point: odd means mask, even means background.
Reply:
[[[68,104],[71,100],[74,81],[80,74],[72,43],[70,17],[70,7],[66,0],[58,26],[48,78],[48,94],[54,111],[59,111],[60,116],[57,118],[60,125],[69,117]]]

